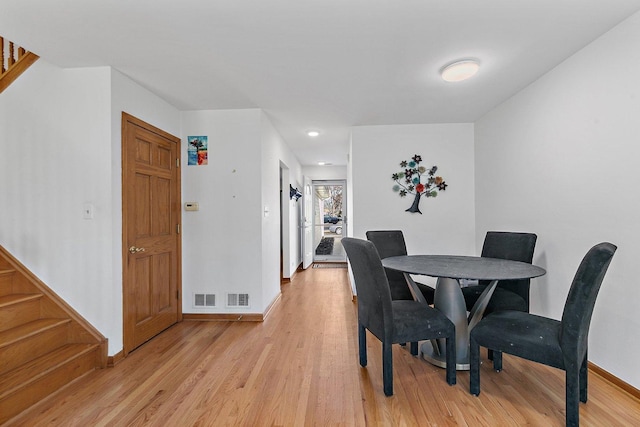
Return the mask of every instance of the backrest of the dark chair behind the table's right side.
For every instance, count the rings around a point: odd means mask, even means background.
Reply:
[[[531,264],[537,239],[538,236],[533,233],[488,231],[484,238],[484,244],[482,245],[481,256]],[[480,284],[484,285],[488,283],[488,281],[480,282]],[[505,288],[520,295],[526,301],[528,308],[530,284],[530,279],[502,280],[498,283],[498,287]]]

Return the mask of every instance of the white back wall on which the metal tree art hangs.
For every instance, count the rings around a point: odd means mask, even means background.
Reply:
[[[475,254],[472,124],[362,126],[351,138],[354,237],[400,229],[409,253]],[[405,212],[413,196],[392,190],[392,174],[415,154],[424,166],[437,165],[449,185],[435,198],[422,198],[422,215]]]

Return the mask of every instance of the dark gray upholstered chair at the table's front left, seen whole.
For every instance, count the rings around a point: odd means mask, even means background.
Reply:
[[[345,237],[342,245],[349,258],[358,300],[358,347],[360,365],[367,366],[368,329],[382,342],[384,394],[393,395],[392,344],[446,339],[447,383],[456,383],[455,326],[428,304],[391,299],[387,276],[373,243]]]

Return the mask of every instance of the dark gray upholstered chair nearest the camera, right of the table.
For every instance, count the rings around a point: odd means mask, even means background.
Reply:
[[[579,425],[579,403],[587,401],[587,345],[591,315],[616,246],[600,243],[582,259],[569,289],[560,321],[522,311],[498,311],[482,319],[470,336],[470,392],[480,394],[480,346],[494,352],[493,368],[502,370],[502,353],[566,372],[566,424]]]

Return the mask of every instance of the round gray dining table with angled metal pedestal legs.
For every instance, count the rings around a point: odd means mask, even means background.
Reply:
[[[411,275],[438,278],[434,307],[456,326],[457,370],[469,369],[469,333],[482,319],[498,282],[530,279],[546,274],[544,268],[526,262],[479,256],[403,255],[384,258],[382,265],[404,273],[414,299],[424,303],[426,300]],[[468,314],[460,286],[463,279],[490,281]],[[446,367],[444,352],[444,340],[432,340],[421,346],[422,357],[436,366]]]

